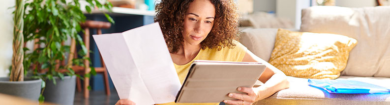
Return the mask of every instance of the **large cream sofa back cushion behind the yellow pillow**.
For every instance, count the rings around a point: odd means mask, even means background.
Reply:
[[[348,36],[359,44],[341,75],[390,77],[390,6],[314,6],[302,10],[301,32]]]

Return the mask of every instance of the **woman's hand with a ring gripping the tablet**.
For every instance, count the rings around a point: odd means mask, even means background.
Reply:
[[[259,96],[259,90],[258,88],[252,87],[238,87],[237,90],[240,92],[244,92],[246,94],[241,93],[229,93],[228,96],[231,98],[235,98],[238,100],[225,100],[223,101],[225,104],[231,104],[231,105],[252,105],[254,102],[257,101]]]

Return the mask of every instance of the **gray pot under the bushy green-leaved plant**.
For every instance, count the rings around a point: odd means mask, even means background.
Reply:
[[[63,80],[55,77],[56,85],[53,81],[46,81],[46,87],[43,91],[45,102],[56,103],[60,105],[73,105],[76,76],[65,76]]]

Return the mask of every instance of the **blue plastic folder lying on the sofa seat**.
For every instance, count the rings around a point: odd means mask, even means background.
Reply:
[[[319,80],[309,79],[310,86],[323,88],[329,93],[344,94],[370,94],[390,93],[390,89],[375,84],[369,84],[353,80]]]

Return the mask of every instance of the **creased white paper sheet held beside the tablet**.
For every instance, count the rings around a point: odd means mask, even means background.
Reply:
[[[174,102],[181,84],[158,23],[93,35],[120,99]]]

